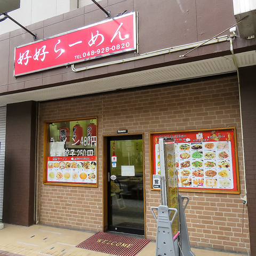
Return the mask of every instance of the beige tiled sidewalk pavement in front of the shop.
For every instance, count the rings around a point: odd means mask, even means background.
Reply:
[[[23,227],[4,224],[0,230],[0,256],[110,256],[75,247],[94,233],[64,228],[33,225]],[[151,241],[137,256],[155,256],[156,243]],[[196,256],[247,256],[191,248]]]

